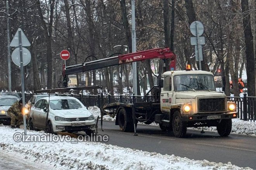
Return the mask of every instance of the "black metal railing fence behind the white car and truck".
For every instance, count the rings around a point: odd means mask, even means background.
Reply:
[[[20,94],[21,95],[21,94]],[[70,96],[75,97],[76,99],[80,100],[83,105],[89,106],[98,106],[101,107],[102,105],[107,105],[110,103],[120,102],[131,104],[135,102],[143,102],[143,101],[151,101],[151,96],[125,96],[125,95],[73,95],[73,94],[55,94],[58,96]],[[33,94],[26,93],[25,94],[25,101],[28,100],[33,96]],[[241,120],[244,121],[256,121],[256,97],[247,97],[244,94],[244,97],[227,97],[228,101],[235,102],[237,104],[237,116]]]

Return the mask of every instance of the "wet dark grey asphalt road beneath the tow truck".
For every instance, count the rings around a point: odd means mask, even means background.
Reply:
[[[114,121],[104,121],[103,130],[99,128],[99,134],[109,135],[107,144],[194,160],[231,162],[239,167],[256,169],[255,137],[234,134],[220,137],[217,132],[201,134],[200,131],[188,130],[185,138],[176,138],[159,127],[140,124],[137,126],[138,136],[133,136],[133,133],[121,132]]]

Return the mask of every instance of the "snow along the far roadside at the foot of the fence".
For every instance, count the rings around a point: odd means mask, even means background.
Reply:
[[[92,112],[94,116],[100,116],[100,109],[97,106],[89,107],[89,110]],[[104,115],[104,120],[108,121],[115,121],[116,118],[112,118],[108,115]],[[143,124],[143,123],[141,123]],[[152,126],[158,126],[156,123],[150,124]],[[198,129],[201,128],[191,128],[191,129]],[[206,131],[217,131],[216,127],[204,127]],[[250,136],[256,136],[256,122],[251,121],[243,121],[240,119],[232,119],[232,131],[233,134],[245,134]]]

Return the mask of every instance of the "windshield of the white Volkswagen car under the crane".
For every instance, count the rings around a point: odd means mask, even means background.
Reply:
[[[75,99],[50,100],[50,108],[53,110],[79,109],[82,105]]]

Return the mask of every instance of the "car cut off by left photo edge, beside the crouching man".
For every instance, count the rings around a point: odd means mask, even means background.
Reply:
[[[10,117],[7,115],[7,110],[12,104],[19,101],[20,98],[13,95],[0,96],[0,124],[10,124]]]

